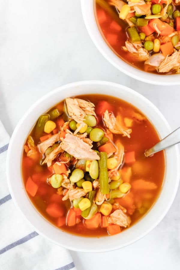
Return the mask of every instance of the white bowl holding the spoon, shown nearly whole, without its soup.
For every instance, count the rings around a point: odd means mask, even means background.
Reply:
[[[112,82],[74,82],[49,92],[39,99],[22,117],[10,140],[7,152],[7,180],[10,194],[35,230],[55,244],[71,250],[104,252],[125,247],[150,232],[170,208],[179,184],[179,151],[172,146],[165,151],[166,172],[161,195],[149,212],[136,224],[114,236],[89,238],[62,232],[46,220],[34,207],[26,194],[22,181],[21,161],[23,145],[38,117],[66,97],[82,94],[104,94],[121,98],[140,109],[152,122],[161,138],[170,133],[170,127],[160,111],[137,92]]]

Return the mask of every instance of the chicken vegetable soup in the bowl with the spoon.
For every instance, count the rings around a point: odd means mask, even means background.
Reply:
[[[133,105],[107,95],[66,98],[41,115],[24,145],[22,176],[35,208],[80,236],[114,235],[140,220],[164,179],[159,141]]]

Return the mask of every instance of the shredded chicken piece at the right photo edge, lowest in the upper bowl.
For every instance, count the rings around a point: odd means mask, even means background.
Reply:
[[[173,69],[177,70],[178,73],[180,72],[180,52],[178,51],[170,56],[167,55],[158,67],[159,72],[169,72]]]

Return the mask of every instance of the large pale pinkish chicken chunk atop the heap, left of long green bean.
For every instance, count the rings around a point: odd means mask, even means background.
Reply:
[[[91,149],[91,146],[88,143],[85,143],[82,139],[69,133],[66,134],[65,139],[61,144],[61,148],[76,159],[100,159],[98,154]]]

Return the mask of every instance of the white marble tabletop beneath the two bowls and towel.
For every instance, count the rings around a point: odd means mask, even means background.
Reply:
[[[161,110],[172,129],[179,127],[180,87],[148,85],[109,64],[85,29],[79,0],[0,0],[0,119],[10,135],[39,97],[86,79],[133,88]],[[178,193],[164,220],[131,246],[101,254],[71,252],[77,269],[179,269],[179,204]]]

